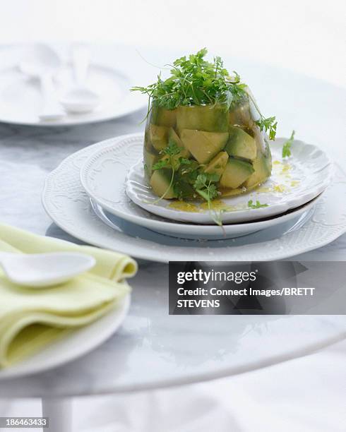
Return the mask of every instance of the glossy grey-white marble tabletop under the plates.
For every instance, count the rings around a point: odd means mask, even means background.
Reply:
[[[253,92],[263,111],[283,119],[279,136],[288,136],[295,128],[297,138],[316,143],[335,160],[346,162],[342,142],[345,90],[264,65],[257,65],[256,73],[251,73],[253,65],[249,61],[242,66],[249,80],[252,78]],[[271,82],[270,92],[261,90],[265,79]],[[61,128],[0,124],[1,222],[37,234],[71,239],[44,213],[41,192],[45,176],[61,160],[86,145],[141,131],[144,114],[136,112],[99,124]],[[345,260],[346,234],[297,258]],[[167,265],[141,263],[131,284],[131,311],[114,337],[61,368],[4,380],[0,397],[87,395],[211,379],[307,354],[340,339],[345,330],[343,318],[328,316],[321,320],[313,316],[262,320],[256,316],[168,316]],[[302,327],[309,336],[299,340],[296,336]],[[318,337],[319,330],[322,338]],[[280,339],[285,339],[285,348]],[[250,348],[251,352],[261,352],[257,362],[251,361]],[[266,355],[269,351],[270,356]]]

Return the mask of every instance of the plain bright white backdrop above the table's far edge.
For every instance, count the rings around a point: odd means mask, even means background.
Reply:
[[[0,0],[0,43],[208,47],[346,85],[345,0]],[[116,55],[116,53],[114,53]]]

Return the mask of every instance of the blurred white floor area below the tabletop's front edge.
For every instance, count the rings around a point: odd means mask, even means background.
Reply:
[[[72,430],[344,432],[345,353],[343,341],[310,356],[209,383],[76,397]],[[40,416],[40,400],[2,400],[0,415]]]

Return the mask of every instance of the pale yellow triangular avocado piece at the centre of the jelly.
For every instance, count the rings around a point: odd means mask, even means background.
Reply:
[[[208,164],[225,147],[228,132],[205,132],[183,129],[180,138],[198,163]]]

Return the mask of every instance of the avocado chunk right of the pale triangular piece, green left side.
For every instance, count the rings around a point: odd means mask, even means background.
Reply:
[[[256,141],[238,126],[229,126],[229,138],[225,150],[229,156],[247,160],[256,159]]]

